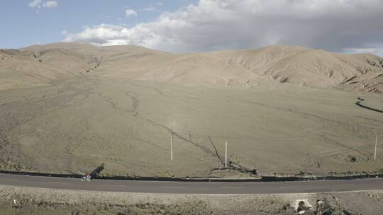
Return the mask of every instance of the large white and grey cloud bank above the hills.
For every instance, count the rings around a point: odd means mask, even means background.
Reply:
[[[329,51],[383,47],[381,0],[200,0],[155,21],[127,28],[101,24],[65,41],[133,44],[172,52],[265,45]],[[133,10],[126,15],[137,16]]]

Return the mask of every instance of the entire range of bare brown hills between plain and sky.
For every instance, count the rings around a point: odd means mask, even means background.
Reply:
[[[347,91],[383,91],[383,58],[336,54],[295,46],[171,54],[133,45],[96,47],[77,43],[1,50],[2,89],[102,72],[118,79],[184,86],[254,86],[292,83]]]

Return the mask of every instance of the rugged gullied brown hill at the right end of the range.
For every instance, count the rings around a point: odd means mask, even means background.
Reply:
[[[345,55],[274,46],[231,52],[228,63],[243,66],[261,76],[270,76],[281,83],[370,91],[371,87],[365,85],[372,82],[375,83],[374,92],[383,91],[378,80],[383,74],[383,59],[372,54]],[[354,86],[348,86],[350,83]]]

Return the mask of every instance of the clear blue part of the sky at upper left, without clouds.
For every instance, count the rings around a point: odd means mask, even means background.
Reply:
[[[127,1],[127,0],[57,0],[56,8],[30,7],[33,0],[4,0],[0,3],[0,47],[18,48],[28,45],[59,42],[63,30],[80,32],[84,26],[109,23],[135,25],[155,20],[162,11],[176,11],[195,1]],[[144,11],[152,6],[154,11]],[[126,17],[126,9],[138,16]]]

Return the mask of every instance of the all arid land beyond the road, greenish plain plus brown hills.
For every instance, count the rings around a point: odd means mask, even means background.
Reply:
[[[104,163],[101,175],[128,177],[382,174],[382,58],[371,54],[76,43],[0,53],[0,170],[84,174]]]

